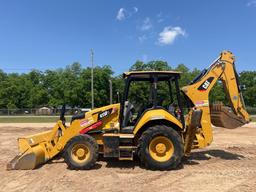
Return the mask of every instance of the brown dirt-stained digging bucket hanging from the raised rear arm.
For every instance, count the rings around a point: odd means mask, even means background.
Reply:
[[[210,110],[212,124],[216,127],[234,129],[247,123],[245,119],[234,114],[223,104],[213,104]]]

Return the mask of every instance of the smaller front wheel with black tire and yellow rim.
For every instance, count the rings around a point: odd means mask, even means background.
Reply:
[[[98,159],[98,151],[98,144],[93,137],[78,135],[66,144],[64,161],[69,169],[91,169]]]

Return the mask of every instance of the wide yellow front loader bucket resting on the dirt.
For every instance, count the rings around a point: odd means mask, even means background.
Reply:
[[[48,159],[47,143],[52,135],[52,131],[19,138],[19,155],[7,164],[7,170],[14,169],[34,169],[38,165],[45,163]]]

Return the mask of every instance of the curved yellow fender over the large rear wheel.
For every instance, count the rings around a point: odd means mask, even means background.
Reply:
[[[142,128],[143,125],[145,125],[147,122],[152,120],[161,120],[161,119],[168,120],[171,123],[174,123],[175,125],[180,127],[180,129],[183,129],[181,122],[176,117],[174,117],[173,115],[171,115],[170,113],[168,113],[163,109],[154,109],[146,112],[141,117],[141,119],[139,120],[139,122],[137,123],[137,125],[133,130],[133,134],[135,135],[140,130],[140,128]]]

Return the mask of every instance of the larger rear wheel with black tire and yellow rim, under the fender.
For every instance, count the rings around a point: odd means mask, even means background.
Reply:
[[[165,125],[148,128],[138,142],[140,161],[151,170],[174,169],[180,164],[183,154],[181,136]]]

